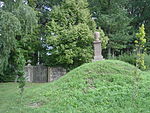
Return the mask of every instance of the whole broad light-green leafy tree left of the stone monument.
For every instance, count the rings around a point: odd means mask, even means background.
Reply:
[[[51,11],[47,44],[53,65],[74,68],[92,60],[95,23],[87,7],[86,0],[65,0]]]

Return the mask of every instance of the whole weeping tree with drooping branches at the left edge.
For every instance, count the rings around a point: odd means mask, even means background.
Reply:
[[[28,45],[25,40],[31,39],[37,18],[35,11],[25,5],[23,0],[3,0],[3,2],[4,6],[0,10],[0,34],[2,34],[0,81],[7,81],[7,78],[12,78],[12,75],[23,76],[24,51],[27,50],[26,45]]]

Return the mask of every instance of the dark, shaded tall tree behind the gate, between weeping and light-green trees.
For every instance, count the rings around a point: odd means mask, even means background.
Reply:
[[[36,30],[36,33],[34,33],[34,38],[36,38],[36,43],[33,40],[32,44],[34,48],[31,51],[31,54],[29,55],[28,59],[32,60],[32,64],[35,65],[37,63],[37,56],[39,53],[40,57],[40,63],[43,63],[43,58],[46,54],[46,33],[45,33],[45,26],[47,22],[50,20],[49,13],[53,9],[54,5],[59,5],[62,0],[26,0],[28,5],[32,8],[34,8],[37,11],[38,16],[38,29]],[[34,53],[34,54],[33,54]],[[33,57],[34,56],[34,57]]]

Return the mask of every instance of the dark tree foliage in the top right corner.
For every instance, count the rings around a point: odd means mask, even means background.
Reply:
[[[146,48],[147,52],[150,53],[150,1],[149,0],[130,0],[128,4],[129,16],[133,18],[131,25],[135,32],[138,31],[138,27],[141,24],[145,25],[146,30]]]

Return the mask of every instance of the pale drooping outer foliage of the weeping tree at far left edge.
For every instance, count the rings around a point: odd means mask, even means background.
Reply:
[[[15,37],[20,28],[20,21],[12,13],[0,10],[0,75],[6,69],[11,50],[16,47]]]

